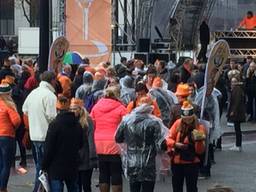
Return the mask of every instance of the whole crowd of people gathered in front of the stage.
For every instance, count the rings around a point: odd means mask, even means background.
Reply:
[[[184,181],[188,192],[197,192],[198,178],[211,176],[214,151],[221,149],[225,105],[236,132],[231,150],[242,151],[241,122],[256,118],[256,64],[248,57],[226,65],[199,119],[205,66],[189,58],[181,66],[122,58],[115,66],[94,67],[85,58],[75,71],[64,65],[59,74],[39,74],[30,59],[6,59],[0,70],[0,191],[7,192],[17,141],[21,167],[32,150],[34,192],[41,173],[52,192],[64,184],[69,192],[92,191],[95,168],[101,192],[121,192],[122,175],[131,192],[153,192],[157,156],[169,158],[174,192],[183,191]]]

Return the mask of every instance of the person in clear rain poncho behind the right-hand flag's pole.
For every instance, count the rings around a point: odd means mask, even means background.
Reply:
[[[202,107],[204,94],[204,87],[201,87],[198,90],[197,96],[195,98],[195,104]],[[208,147],[207,151],[201,157],[201,165],[200,165],[200,176],[201,178],[207,178],[211,176],[211,161],[214,161],[214,149],[213,143],[217,141],[222,132],[220,127],[220,114],[219,114],[219,103],[218,96],[221,93],[217,89],[212,89],[212,91],[206,91],[205,97],[205,106],[203,119],[209,121],[210,127],[208,130]],[[205,157],[206,156],[206,157]],[[207,162],[205,160],[207,159]],[[204,162],[203,162],[204,161]]]

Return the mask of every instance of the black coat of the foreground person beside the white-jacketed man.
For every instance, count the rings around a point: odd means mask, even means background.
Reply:
[[[82,127],[72,112],[61,112],[50,123],[45,139],[42,170],[54,180],[74,180],[78,176],[79,149],[83,145]]]

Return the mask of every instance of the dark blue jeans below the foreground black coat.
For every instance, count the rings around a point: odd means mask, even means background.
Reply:
[[[50,188],[51,192],[63,192],[64,183],[67,186],[68,192],[78,192],[78,183],[77,180],[51,180]]]

